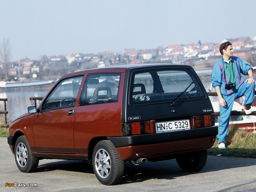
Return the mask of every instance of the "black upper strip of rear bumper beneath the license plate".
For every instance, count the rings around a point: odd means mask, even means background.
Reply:
[[[216,137],[218,135],[218,127],[204,127],[190,129],[186,131],[153,133],[145,135],[132,135],[123,137],[107,137],[116,148],[128,146],[140,146],[157,143],[172,142],[178,140],[200,139],[206,137]]]

